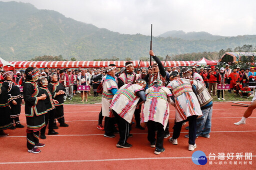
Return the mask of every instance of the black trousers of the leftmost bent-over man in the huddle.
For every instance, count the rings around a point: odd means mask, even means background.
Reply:
[[[125,145],[127,143],[128,135],[130,132],[130,124],[121,118],[114,110],[112,110],[114,114],[115,122],[117,123],[120,139],[117,142],[119,145]]]

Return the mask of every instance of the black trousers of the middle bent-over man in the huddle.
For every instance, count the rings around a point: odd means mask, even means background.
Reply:
[[[147,122],[147,130],[148,130],[147,131],[147,140],[150,143],[153,143],[156,141],[155,147],[162,149],[163,148],[163,137],[164,137],[163,125],[158,122],[148,121]],[[156,140],[155,140],[155,130],[157,130]]]

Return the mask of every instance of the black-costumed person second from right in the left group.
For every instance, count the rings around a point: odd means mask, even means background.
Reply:
[[[49,91],[47,85],[47,77],[41,76],[38,79],[39,88],[41,89],[42,94],[46,95],[46,99],[44,100],[45,107],[47,109],[47,113],[44,114],[44,120],[45,120],[45,126],[40,130],[40,138],[46,139],[45,136],[45,130],[46,126],[49,123],[48,126],[48,135],[57,135],[58,133],[53,130],[53,124],[54,124],[54,116],[55,116],[55,106],[54,104],[58,104],[58,101],[52,99],[51,92]],[[61,93],[61,91],[58,91],[58,93]]]

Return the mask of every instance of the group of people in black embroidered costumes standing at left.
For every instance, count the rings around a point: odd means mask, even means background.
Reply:
[[[3,130],[13,126],[10,115],[18,117],[20,104],[25,103],[26,117],[26,146],[29,153],[40,153],[38,148],[45,144],[39,143],[39,137],[46,139],[45,130],[48,124],[48,135],[57,135],[54,129],[58,129],[55,119],[60,127],[68,127],[64,122],[63,99],[65,88],[58,82],[55,73],[48,77],[38,77],[37,68],[28,67],[25,70],[25,82],[23,95],[19,87],[12,81],[13,73],[3,73],[5,81],[0,84],[0,136],[8,136]],[[7,86],[8,85],[8,86]],[[13,89],[13,90],[12,90]],[[13,113],[13,114],[12,114]],[[20,128],[18,119],[15,119],[15,127]]]

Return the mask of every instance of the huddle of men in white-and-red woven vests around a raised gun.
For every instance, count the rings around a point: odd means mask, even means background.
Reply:
[[[170,82],[165,87],[166,72],[161,61],[150,50],[149,54],[155,60],[152,68],[144,79],[139,79],[133,72],[132,62],[125,63],[124,72],[115,77],[114,65],[106,68],[106,77],[103,81],[102,92],[102,116],[105,116],[104,137],[114,138],[117,132],[114,124],[117,124],[120,139],[117,148],[130,148],[127,139],[132,137],[130,127],[134,114],[140,116],[140,125],[147,126],[147,140],[150,147],[155,148],[154,154],[164,152],[163,139],[170,136],[168,126],[169,104],[175,107],[175,121],[173,135],[169,139],[173,145],[177,145],[181,127],[184,122],[189,123],[189,132],[185,137],[188,140],[188,150],[196,148],[195,139],[198,136],[209,138],[211,128],[212,98],[205,86],[194,79],[188,68],[183,68],[183,78],[173,71],[169,75]],[[145,87],[148,87],[145,90]],[[143,107],[141,108],[141,104]],[[139,114],[136,113],[138,110]],[[140,114],[140,111],[142,113]],[[157,131],[155,139],[155,131]]]

